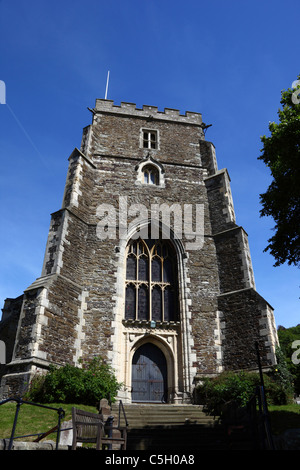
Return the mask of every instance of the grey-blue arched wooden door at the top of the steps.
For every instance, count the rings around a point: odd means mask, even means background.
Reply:
[[[134,402],[167,401],[167,361],[157,346],[145,343],[132,359],[131,397]]]

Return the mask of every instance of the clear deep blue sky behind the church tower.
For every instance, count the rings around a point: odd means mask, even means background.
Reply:
[[[231,177],[257,291],[277,326],[300,323],[299,270],[263,253],[274,222],[259,215],[271,180],[257,160],[281,90],[300,73],[298,12],[294,0],[0,0],[1,308],[41,274],[68,157],[109,70],[115,104],[196,111],[212,124],[206,139]]]

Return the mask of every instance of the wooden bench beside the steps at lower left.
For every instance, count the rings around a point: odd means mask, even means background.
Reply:
[[[108,426],[103,416],[96,413],[72,408],[73,443],[72,450],[76,450],[77,443],[94,443],[97,450],[116,444],[119,449],[125,450],[127,444],[127,428]]]

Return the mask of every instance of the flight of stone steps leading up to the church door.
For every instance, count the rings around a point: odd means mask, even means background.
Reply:
[[[249,450],[253,443],[244,437],[229,439],[218,419],[207,416],[198,405],[126,404],[128,450],[198,452],[205,450]],[[118,419],[118,403],[112,414]],[[122,412],[121,412],[122,418]],[[124,420],[121,419],[124,425]]]

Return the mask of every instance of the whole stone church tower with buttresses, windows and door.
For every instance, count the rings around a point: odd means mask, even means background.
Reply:
[[[97,99],[69,157],[41,276],[7,299],[1,397],[102,356],[124,402],[186,403],[204,376],[276,362],[272,307],[199,113]]]

